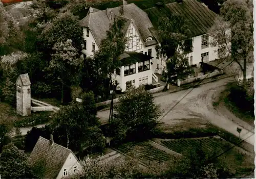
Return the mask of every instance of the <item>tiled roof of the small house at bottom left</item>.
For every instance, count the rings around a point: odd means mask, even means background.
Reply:
[[[56,143],[51,145],[49,140],[40,136],[31,152],[29,161],[33,167],[45,165],[43,178],[56,178],[71,152],[70,149]]]

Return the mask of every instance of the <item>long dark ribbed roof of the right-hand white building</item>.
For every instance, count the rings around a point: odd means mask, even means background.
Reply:
[[[145,12],[150,17],[154,27],[157,25],[160,17],[166,17],[169,13],[183,16],[189,23],[194,37],[206,34],[212,25],[214,25],[214,21],[218,16],[197,0],[183,0],[182,3],[169,3],[164,5],[163,8],[154,7],[146,9]]]

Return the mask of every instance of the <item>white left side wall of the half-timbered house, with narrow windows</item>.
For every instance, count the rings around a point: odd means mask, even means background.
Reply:
[[[83,48],[82,49],[82,53],[86,54],[87,57],[89,57],[89,56],[92,57],[93,54],[94,54],[94,52],[92,52],[93,43],[95,43],[95,52],[97,50],[99,50],[99,48],[98,48],[98,45],[96,44],[96,41],[95,41],[95,39],[93,37],[93,34],[92,34],[91,30],[89,32],[89,37],[87,37],[86,35],[87,35],[87,28],[83,28],[83,38],[84,38],[84,40],[87,41],[87,48],[86,49]]]

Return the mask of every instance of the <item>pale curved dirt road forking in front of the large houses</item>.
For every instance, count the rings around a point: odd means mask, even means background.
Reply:
[[[226,78],[175,93],[157,93],[154,95],[155,102],[160,104],[163,110],[163,115],[159,118],[160,122],[175,125],[180,122],[179,119],[200,118],[208,120],[237,137],[239,137],[237,127],[240,127],[242,129],[240,138],[254,145],[254,128],[252,126],[228,110],[223,111],[212,106],[213,98],[217,98],[231,80],[232,78]],[[102,123],[106,123],[109,118],[109,110],[100,111],[97,116],[100,117]]]

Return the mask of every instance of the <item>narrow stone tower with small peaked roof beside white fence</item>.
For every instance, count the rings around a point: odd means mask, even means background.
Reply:
[[[16,81],[17,114],[31,115],[31,91],[28,73],[20,74]]]

